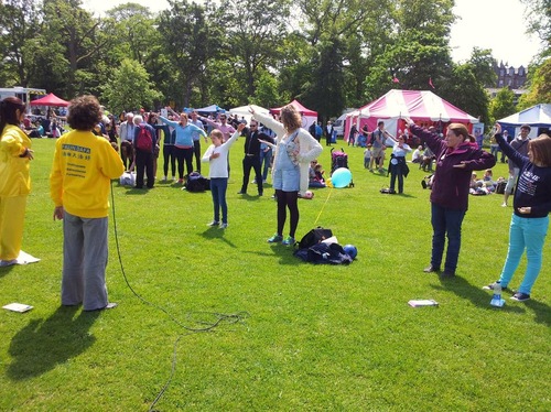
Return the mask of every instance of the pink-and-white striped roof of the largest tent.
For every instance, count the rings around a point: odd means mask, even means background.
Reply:
[[[399,119],[407,117],[418,123],[463,123],[469,130],[472,124],[479,122],[477,118],[456,108],[430,90],[390,90],[377,100],[350,113],[345,123],[345,137],[348,135],[353,123],[356,123],[358,130],[367,124],[368,130],[371,131],[377,127],[379,120],[385,121],[389,132],[396,134],[399,127],[402,126]]]

